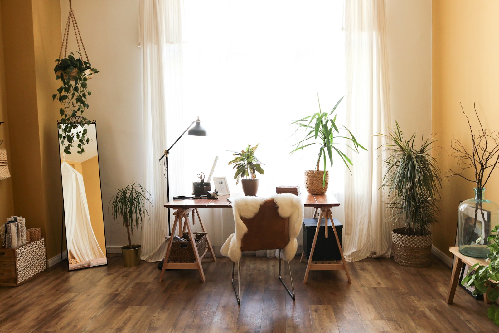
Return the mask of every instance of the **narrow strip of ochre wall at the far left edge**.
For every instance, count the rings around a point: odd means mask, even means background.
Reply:
[[[1,12],[1,8],[0,8]],[[1,14],[0,14],[0,26],[1,26]],[[0,149],[7,150],[7,159],[10,160],[10,147],[8,140],[8,119],[7,119],[7,107],[5,103],[5,67],[3,64],[3,42],[2,34],[0,29],[0,121],[5,123],[0,125],[0,140],[3,143],[0,145]],[[9,164],[9,170],[11,171],[11,166]],[[14,200],[12,198],[12,177],[0,180],[0,224],[14,214]]]

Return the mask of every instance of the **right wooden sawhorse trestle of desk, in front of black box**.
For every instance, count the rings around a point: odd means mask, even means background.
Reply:
[[[316,210],[317,211],[317,210]],[[314,214],[314,218],[315,218]],[[341,254],[341,264],[313,264],[312,263],[312,258],[313,258],[313,251],[315,249],[315,243],[317,242],[317,235],[319,234],[319,229],[320,229],[320,222],[322,219],[325,220],[325,226],[324,226],[324,233],[327,238],[327,226],[329,224],[329,221],[331,221],[331,225],[333,227],[333,232],[334,232],[334,237],[336,237],[336,244],[338,245],[338,250]],[[300,261],[303,259],[304,253],[301,255]],[[348,279],[348,283],[352,283],[350,280],[350,274],[348,274],[348,269],[346,267],[346,262],[345,262],[345,257],[343,256],[343,250],[341,249],[341,244],[340,240],[338,238],[338,233],[336,232],[336,228],[334,227],[334,222],[331,214],[331,209],[329,208],[321,208],[320,212],[320,217],[317,220],[317,227],[315,228],[315,235],[313,237],[313,242],[312,242],[312,248],[310,249],[310,255],[308,256],[308,262],[307,262],[307,269],[305,271],[305,278],[303,279],[303,283],[307,283],[307,278],[308,278],[308,272],[310,271],[329,271],[329,270],[341,270],[345,271],[346,277]]]

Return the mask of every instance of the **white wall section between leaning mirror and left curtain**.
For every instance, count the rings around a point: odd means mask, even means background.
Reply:
[[[64,29],[69,3],[60,3]],[[139,4],[137,0],[74,0],[72,7],[92,67],[101,71],[88,81],[92,95],[85,115],[97,121],[106,246],[123,246],[126,229],[113,221],[108,204],[116,188],[143,179]],[[68,52],[76,52],[72,26],[70,32]],[[133,240],[139,236],[134,234]]]

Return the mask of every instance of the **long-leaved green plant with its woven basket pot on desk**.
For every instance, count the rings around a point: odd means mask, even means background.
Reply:
[[[333,166],[333,153],[334,155],[339,155],[348,170],[350,170],[350,165],[353,165],[352,161],[339,149],[339,146],[346,146],[356,153],[359,152],[359,148],[367,150],[357,142],[355,136],[348,128],[336,124],[336,114],[334,114],[334,111],[342,99],[343,97],[340,98],[330,112],[322,112],[320,109],[319,96],[317,96],[319,112],[315,112],[310,116],[292,122],[292,124],[298,125],[298,128],[294,132],[303,128],[306,134],[303,140],[295,144],[295,148],[289,152],[290,154],[311,145],[319,145],[315,170],[305,171],[305,188],[310,194],[326,193],[329,183],[329,172],[326,170],[326,159],[328,159],[331,166]],[[323,170],[320,170],[321,159],[323,161]]]

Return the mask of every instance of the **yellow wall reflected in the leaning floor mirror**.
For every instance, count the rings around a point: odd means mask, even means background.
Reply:
[[[83,170],[82,175],[85,182],[85,193],[87,195],[88,212],[90,214],[92,229],[100,249],[103,253],[106,253],[98,156],[94,156],[82,162],[81,168]]]

